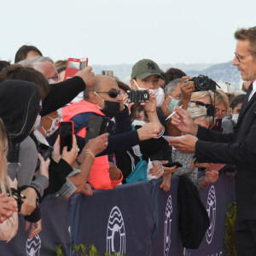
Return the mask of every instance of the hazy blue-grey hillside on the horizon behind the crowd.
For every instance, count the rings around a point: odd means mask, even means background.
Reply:
[[[93,71],[95,73],[102,73],[102,70],[113,70],[114,76],[130,85],[131,67],[132,65],[129,64],[93,65]],[[237,70],[237,67],[232,66],[231,61],[220,64],[160,64],[160,68],[164,71],[170,67],[180,68],[191,77],[203,74],[216,82],[229,82],[237,89],[240,85],[240,73]]]

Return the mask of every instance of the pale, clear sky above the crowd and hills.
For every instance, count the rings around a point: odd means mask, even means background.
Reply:
[[[221,63],[234,32],[256,26],[255,0],[9,0],[1,2],[0,59],[32,44],[54,61],[89,65]]]

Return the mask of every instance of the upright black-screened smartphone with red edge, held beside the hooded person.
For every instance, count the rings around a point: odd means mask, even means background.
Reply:
[[[60,125],[60,153],[67,146],[67,151],[73,147],[73,121],[61,122]]]

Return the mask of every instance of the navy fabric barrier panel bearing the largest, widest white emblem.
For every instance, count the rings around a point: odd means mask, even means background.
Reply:
[[[92,197],[73,195],[69,224],[74,244],[94,244],[125,255],[149,255],[154,228],[149,183],[131,183],[113,190],[94,190]]]

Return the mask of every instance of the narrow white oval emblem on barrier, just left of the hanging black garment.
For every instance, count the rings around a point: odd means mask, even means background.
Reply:
[[[172,226],[172,196],[169,195],[166,202],[166,217],[165,217],[165,228],[164,228],[164,253],[168,255],[171,246],[171,226]]]

